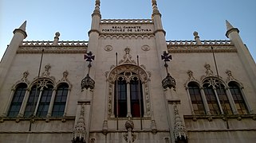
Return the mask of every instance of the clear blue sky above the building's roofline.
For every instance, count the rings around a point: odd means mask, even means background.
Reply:
[[[151,0],[100,0],[102,19],[151,18]],[[167,40],[228,40],[226,23],[240,30],[256,60],[256,0],[157,0]],[[88,41],[95,0],[0,0],[0,58],[14,29],[27,21],[25,41]]]

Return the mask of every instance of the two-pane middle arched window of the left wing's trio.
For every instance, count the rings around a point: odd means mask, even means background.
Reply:
[[[45,117],[48,113],[52,94],[53,83],[49,79],[39,79],[38,83],[31,88],[24,116],[29,117],[36,114],[38,117]]]

